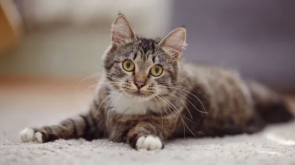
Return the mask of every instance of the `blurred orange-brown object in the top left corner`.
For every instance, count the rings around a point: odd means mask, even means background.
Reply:
[[[0,52],[13,47],[22,31],[22,19],[12,0],[0,0]]]

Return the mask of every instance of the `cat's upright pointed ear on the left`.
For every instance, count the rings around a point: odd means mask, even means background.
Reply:
[[[133,29],[126,17],[119,14],[112,24],[112,46],[132,40],[136,40]]]

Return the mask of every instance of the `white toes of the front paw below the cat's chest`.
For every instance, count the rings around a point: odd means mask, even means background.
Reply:
[[[136,148],[146,148],[149,150],[161,149],[163,146],[161,140],[154,136],[142,136],[136,141]]]

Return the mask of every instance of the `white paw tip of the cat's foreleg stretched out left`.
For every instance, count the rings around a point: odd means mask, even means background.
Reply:
[[[40,132],[34,132],[33,129],[26,128],[21,132],[21,140],[23,142],[29,142],[29,141],[37,141],[42,143],[42,134]]]

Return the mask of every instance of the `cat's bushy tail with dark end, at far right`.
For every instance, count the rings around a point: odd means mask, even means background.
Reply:
[[[255,81],[249,81],[255,109],[267,123],[280,123],[293,120],[295,115],[286,100],[274,91]]]

